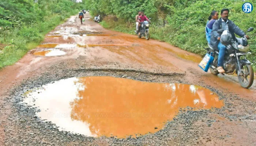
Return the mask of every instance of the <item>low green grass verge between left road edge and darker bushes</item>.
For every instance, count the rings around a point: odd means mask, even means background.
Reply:
[[[65,15],[53,14],[45,17],[45,21],[42,23],[34,23],[14,30],[0,31],[0,35],[4,36],[0,37],[0,43],[7,45],[0,53],[0,69],[17,62],[27,51],[39,45],[44,40],[45,34],[77,12],[76,9]]]

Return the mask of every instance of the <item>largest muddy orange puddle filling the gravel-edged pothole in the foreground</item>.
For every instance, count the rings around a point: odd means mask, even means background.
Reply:
[[[179,108],[223,106],[217,95],[199,86],[115,77],[68,78],[26,96],[24,102],[35,104],[41,110],[38,116],[55,123],[59,130],[92,137],[154,133],[172,120]]]

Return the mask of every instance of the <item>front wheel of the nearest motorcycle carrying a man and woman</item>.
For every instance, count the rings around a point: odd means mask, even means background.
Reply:
[[[251,87],[254,79],[252,65],[250,64],[241,65],[241,72],[243,76],[237,76],[240,85],[244,88]]]

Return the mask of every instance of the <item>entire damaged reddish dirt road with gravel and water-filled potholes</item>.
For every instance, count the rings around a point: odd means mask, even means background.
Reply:
[[[255,146],[256,81],[72,16],[0,71],[3,146]]]

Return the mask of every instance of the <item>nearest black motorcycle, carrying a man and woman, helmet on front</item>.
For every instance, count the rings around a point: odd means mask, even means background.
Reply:
[[[253,31],[254,28],[250,27],[247,32]],[[227,30],[218,30],[219,34],[230,34]],[[249,88],[253,84],[254,72],[251,65],[251,62],[246,59],[246,55],[252,54],[249,51],[249,45],[246,37],[237,38],[237,40],[233,40],[230,37],[231,41],[226,46],[226,53],[224,57],[224,65],[223,69],[225,70],[225,74],[237,74],[238,81],[243,88]],[[214,57],[214,61],[210,65],[210,72],[214,75],[218,75],[219,72],[217,70],[218,66],[218,49],[214,49],[210,44],[208,44],[209,48],[206,48],[207,53],[211,54]],[[224,75],[224,74],[223,74]]]

